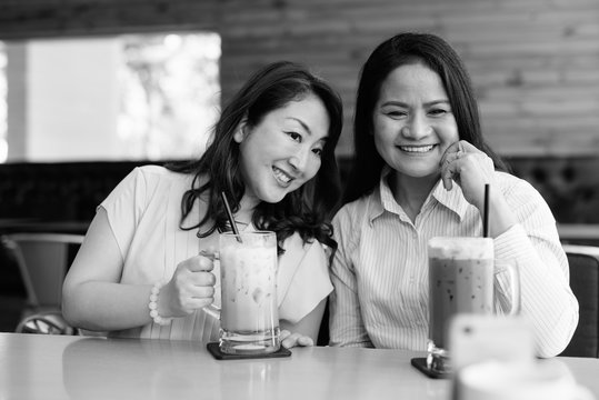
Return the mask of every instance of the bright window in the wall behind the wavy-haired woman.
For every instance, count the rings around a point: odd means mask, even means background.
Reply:
[[[2,149],[27,161],[193,158],[220,112],[216,33],[6,42],[0,53],[0,161]]]

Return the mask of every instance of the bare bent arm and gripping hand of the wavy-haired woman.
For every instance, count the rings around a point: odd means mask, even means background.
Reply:
[[[123,268],[107,212],[98,209],[62,288],[62,311],[69,323],[88,330],[111,331],[150,323],[151,284],[119,283]],[[181,262],[162,288],[162,317],[183,317],[212,301],[212,262],[194,257]],[[194,293],[198,296],[193,299]]]

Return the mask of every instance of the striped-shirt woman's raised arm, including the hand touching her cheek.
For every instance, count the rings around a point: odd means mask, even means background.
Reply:
[[[526,181],[509,188],[487,154],[466,141],[450,146],[441,161],[443,186],[452,181],[482,216],[485,184],[490,184],[489,236],[497,259],[513,259],[521,282],[521,314],[532,323],[540,357],[560,353],[578,324],[578,301],[569,287],[568,260],[561,248],[556,221],[542,197]],[[506,309],[509,281],[497,274],[498,297]]]

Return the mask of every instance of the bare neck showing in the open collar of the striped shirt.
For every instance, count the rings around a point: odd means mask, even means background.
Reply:
[[[393,198],[412,222],[416,221],[416,217],[438,181],[438,174],[415,178],[393,171],[387,177]]]

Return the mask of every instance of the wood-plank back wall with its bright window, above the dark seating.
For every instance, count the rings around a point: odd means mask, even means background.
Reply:
[[[350,154],[360,66],[403,30],[463,57],[499,153],[599,150],[597,0],[3,0],[0,156],[188,157],[172,148],[201,148],[214,107],[279,59],[341,92]]]

